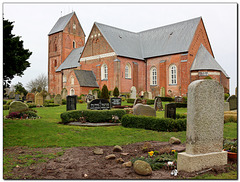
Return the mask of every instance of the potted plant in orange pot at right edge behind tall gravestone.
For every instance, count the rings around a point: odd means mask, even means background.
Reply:
[[[237,159],[237,140],[224,140],[223,149],[228,152],[228,159]]]

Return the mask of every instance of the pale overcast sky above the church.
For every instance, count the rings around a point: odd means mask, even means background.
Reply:
[[[237,4],[235,3],[5,3],[4,19],[14,21],[13,34],[21,36],[32,52],[31,67],[12,84],[26,84],[48,71],[48,33],[57,20],[75,11],[86,34],[94,22],[140,32],[196,17],[202,17],[217,62],[230,76],[230,93],[237,86]]]

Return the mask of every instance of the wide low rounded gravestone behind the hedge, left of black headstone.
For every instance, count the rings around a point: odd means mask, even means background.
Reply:
[[[154,116],[156,117],[156,110],[149,105],[136,104],[133,107],[134,115],[142,115],[142,116]]]

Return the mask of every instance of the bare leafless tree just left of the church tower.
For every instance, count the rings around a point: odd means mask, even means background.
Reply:
[[[37,78],[30,80],[27,83],[28,90],[33,93],[35,91],[41,92],[42,90],[47,90],[48,78],[43,73],[38,75]]]

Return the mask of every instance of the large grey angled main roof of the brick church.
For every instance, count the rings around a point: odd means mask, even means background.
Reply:
[[[139,33],[95,22],[119,56],[144,58],[187,52],[201,17]]]

